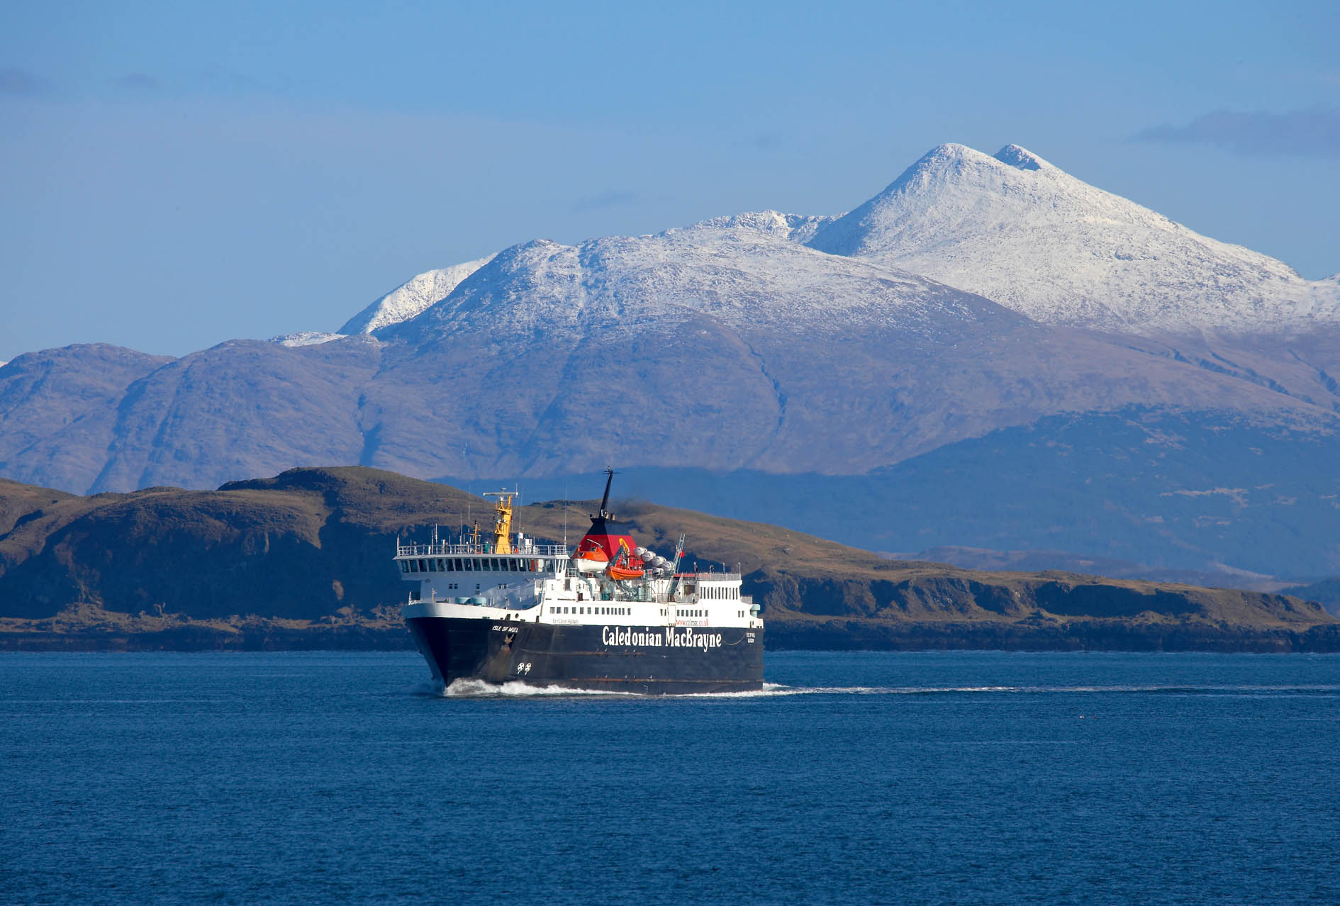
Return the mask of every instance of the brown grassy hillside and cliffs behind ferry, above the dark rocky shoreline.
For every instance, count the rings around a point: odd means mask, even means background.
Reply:
[[[519,508],[516,528],[557,540],[586,529],[594,504]],[[40,509],[40,513],[39,513]],[[212,492],[153,488],[68,497],[0,484],[0,617],[50,618],[71,603],[194,619],[234,614],[314,621],[402,600],[397,535],[433,524],[485,528],[490,508],[445,485],[364,468],[292,469]],[[32,515],[39,513],[39,515]],[[639,543],[669,555],[679,532],[699,567],[738,562],[772,621],[805,625],[1214,623],[1306,629],[1336,622],[1297,598],[1073,574],[978,572],[874,554],[773,525],[634,503],[620,513]],[[937,630],[941,631],[941,630]],[[992,630],[996,631],[996,630]]]

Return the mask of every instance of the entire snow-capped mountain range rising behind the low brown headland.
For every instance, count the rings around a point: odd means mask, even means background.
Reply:
[[[1087,536],[1110,555],[1136,536],[1227,549],[1215,539],[1233,532],[1250,551],[1253,532],[1292,525],[1323,563],[1337,294],[1340,277],[1301,280],[1022,149],[942,146],[840,217],[523,243],[419,275],[338,334],[173,361],[100,346],[17,357],[0,373],[0,474],[86,492],[314,464],[531,478],[618,462],[805,488],[859,478],[886,500],[899,474],[972,474],[972,507],[1006,536],[1045,500],[1033,536],[1057,549],[1080,549],[1065,539],[1084,516],[1065,501],[1092,477],[1107,489],[1084,499],[1122,513]],[[1114,433],[1124,452],[1106,453]],[[1300,462],[1312,497],[1272,491]],[[795,507],[791,524],[825,505],[764,497]],[[1235,509],[1214,509],[1221,497]],[[945,544],[961,543],[959,517],[917,515]]]

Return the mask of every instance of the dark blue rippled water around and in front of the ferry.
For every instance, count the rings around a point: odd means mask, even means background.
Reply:
[[[444,698],[411,654],[0,655],[0,901],[1340,902],[1340,657],[766,673]]]

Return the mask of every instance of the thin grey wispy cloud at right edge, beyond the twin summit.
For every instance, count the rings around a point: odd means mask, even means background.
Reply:
[[[1185,126],[1146,129],[1136,141],[1205,143],[1262,157],[1340,158],[1340,107],[1306,107],[1282,114],[1215,110]]]

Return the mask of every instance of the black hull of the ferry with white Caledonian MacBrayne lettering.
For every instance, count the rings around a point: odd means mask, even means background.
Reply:
[[[444,684],[691,694],[762,689],[762,630],[555,626],[504,619],[405,621]],[[674,643],[678,642],[678,643]]]

